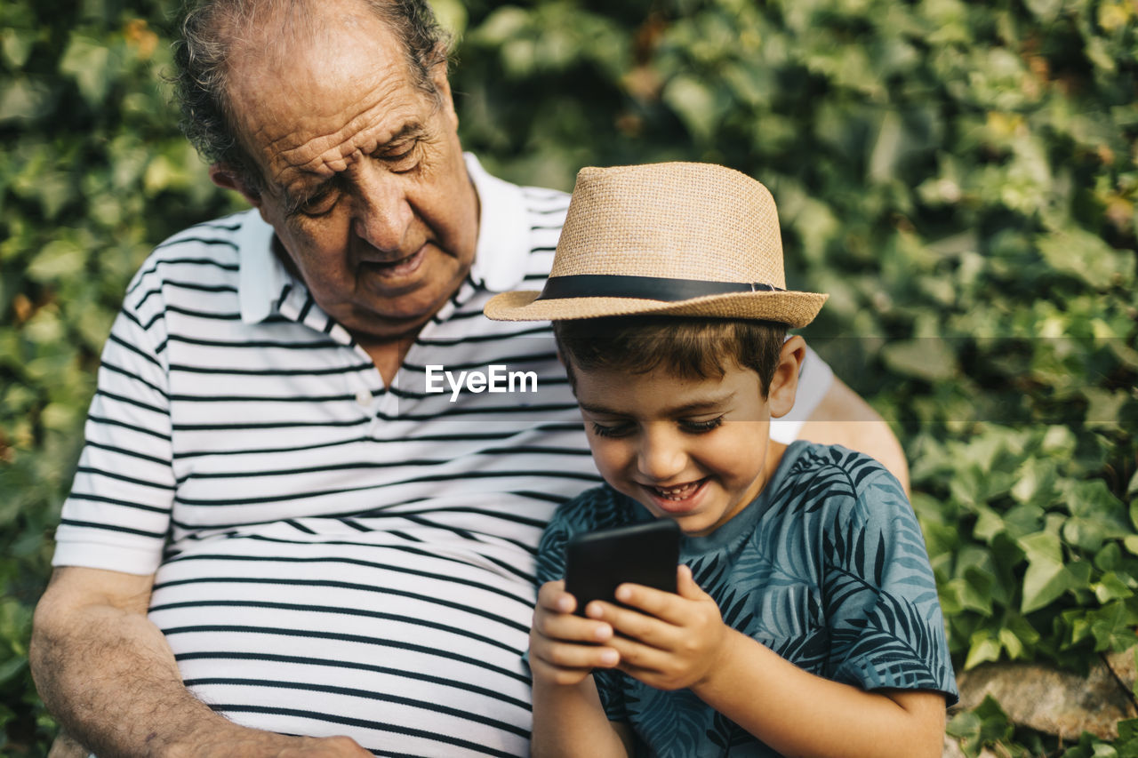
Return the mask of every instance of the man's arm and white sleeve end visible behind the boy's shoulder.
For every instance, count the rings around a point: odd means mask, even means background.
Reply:
[[[909,492],[909,464],[893,430],[838,377],[802,425],[798,438],[871,455],[897,477],[906,494]]]

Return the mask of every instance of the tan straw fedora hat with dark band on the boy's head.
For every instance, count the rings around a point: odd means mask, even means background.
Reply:
[[[732,168],[658,163],[582,168],[541,291],[502,293],[496,321],[612,315],[814,320],[826,295],[786,291],[767,188]]]

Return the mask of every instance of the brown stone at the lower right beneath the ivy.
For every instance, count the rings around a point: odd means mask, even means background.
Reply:
[[[974,708],[990,694],[1015,724],[1064,740],[1083,732],[1113,740],[1120,720],[1138,717],[1133,651],[1107,660],[1086,677],[1037,664],[984,664],[957,676],[959,705]]]

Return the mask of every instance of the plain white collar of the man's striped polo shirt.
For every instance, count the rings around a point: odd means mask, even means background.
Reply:
[[[529,256],[529,225],[521,188],[486,173],[472,154],[463,157],[479,205],[478,244],[470,279],[494,293],[513,289],[526,274]],[[241,321],[259,323],[278,308],[284,287],[299,282],[273,253],[273,228],[255,208],[244,214],[237,242],[241,256]]]

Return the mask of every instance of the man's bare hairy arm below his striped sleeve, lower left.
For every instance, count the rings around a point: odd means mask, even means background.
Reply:
[[[349,757],[348,738],[288,738],[238,726],[182,684],[146,616],[154,576],[57,568],[35,608],[28,659],[48,710],[99,758]]]

